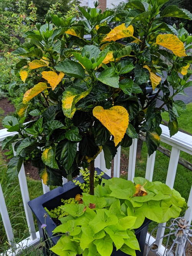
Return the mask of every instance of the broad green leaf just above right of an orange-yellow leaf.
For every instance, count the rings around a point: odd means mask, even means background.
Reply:
[[[60,62],[58,65],[55,66],[55,69],[75,78],[83,79],[85,76],[83,66],[81,66],[80,63],[74,62],[73,60],[69,59]]]

